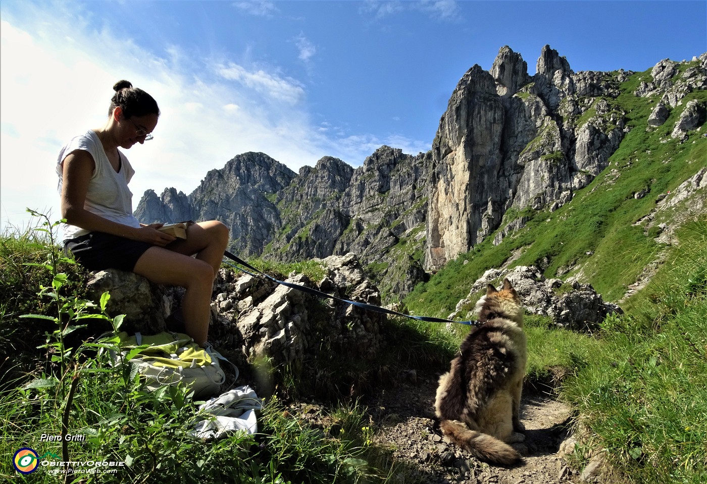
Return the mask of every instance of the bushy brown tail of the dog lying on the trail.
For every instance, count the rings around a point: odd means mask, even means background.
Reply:
[[[442,420],[440,422],[440,430],[452,442],[462,447],[462,449],[466,449],[474,457],[482,461],[508,466],[515,464],[521,459],[518,451],[510,447],[506,442],[496,439],[493,435],[470,430],[467,425],[464,425],[459,420]]]

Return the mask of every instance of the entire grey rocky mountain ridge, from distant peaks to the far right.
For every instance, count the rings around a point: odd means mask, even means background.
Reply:
[[[241,256],[281,261],[358,254],[385,302],[496,232],[523,227],[523,210],[556,210],[608,165],[629,128],[617,98],[632,72],[571,70],[545,46],[527,63],[501,47],[490,71],[473,66],[452,92],[432,149],[408,155],[382,146],[357,168],[324,157],[298,174],[264,153],[211,170],[188,196],[148,190],[143,222],[215,218]],[[683,102],[707,84],[707,54],[665,59],[643,73],[638,97],[658,99],[649,129],[674,110],[680,140],[705,122],[704,102]],[[674,118],[673,118],[674,119]],[[499,230],[500,229],[500,230]]]

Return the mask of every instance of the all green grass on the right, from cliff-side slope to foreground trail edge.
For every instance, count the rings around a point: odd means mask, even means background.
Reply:
[[[511,256],[510,266],[542,264],[547,277],[578,276],[605,300],[618,301],[660,254],[664,262],[648,286],[621,302],[626,314],[609,317],[597,334],[527,317],[527,376],[563,377],[560,395],[584,429],[575,468],[591,451],[605,451],[615,482],[697,484],[707,482],[707,216],[688,204],[658,213],[650,227],[644,218],[707,165],[705,126],[684,143],[670,138],[686,101],[706,102],[707,93],[690,93],[663,126],[650,129],[658,98],[632,94],[645,76],[632,76],[615,100],[631,131],[604,172],[555,212],[507,213],[502,226],[520,216],[530,220],[498,246],[491,234],[450,261],[405,303],[414,314],[444,317],[484,271]],[[647,194],[636,199],[639,191]],[[657,223],[674,225],[678,216],[687,220],[675,234],[679,242],[658,242]],[[456,331],[461,340],[464,331]]]

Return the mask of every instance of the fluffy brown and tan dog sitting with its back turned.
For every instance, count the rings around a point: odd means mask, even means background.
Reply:
[[[489,284],[477,302],[483,326],[469,333],[440,377],[435,409],[440,429],[477,459],[515,464],[520,454],[509,444],[522,442],[520,423],[527,349],[523,307],[510,281]]]

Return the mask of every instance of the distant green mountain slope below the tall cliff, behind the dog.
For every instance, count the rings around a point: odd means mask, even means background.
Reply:
[[[530,217],[525,228],[498,246],[491,243],[495,235],[491,234],[471,252],[450,261],[428,283],[415,288],[405,300],[407,307],[416,314],[449,314],[486,269],[501,266],[518,250],[522,254],[513,266],[545,261],[547,277],[555,277],[559,268],[575,267],[570,276],[581,268],[582,279],[604,299],[620,299],[662,249],[655,234],[645,234],[643,226],[633,224],[655,208],[660,194],[674,190],[707,160],[707,138],[701,132],[692,132],[685,143],[670,138],[682,109],[674,109],[660,128],[646,131],[655,100],[633,95],[645,75],[636,73],[621,86],[615,102],[627,112],[631,131],[604,172],[557,211],[509,211],[502,227],[524,215]],[[707,102],[707,92],[690,93],[684,103],[691,99]],[[648,194],[635,199],[633,195],[642,190]]]

